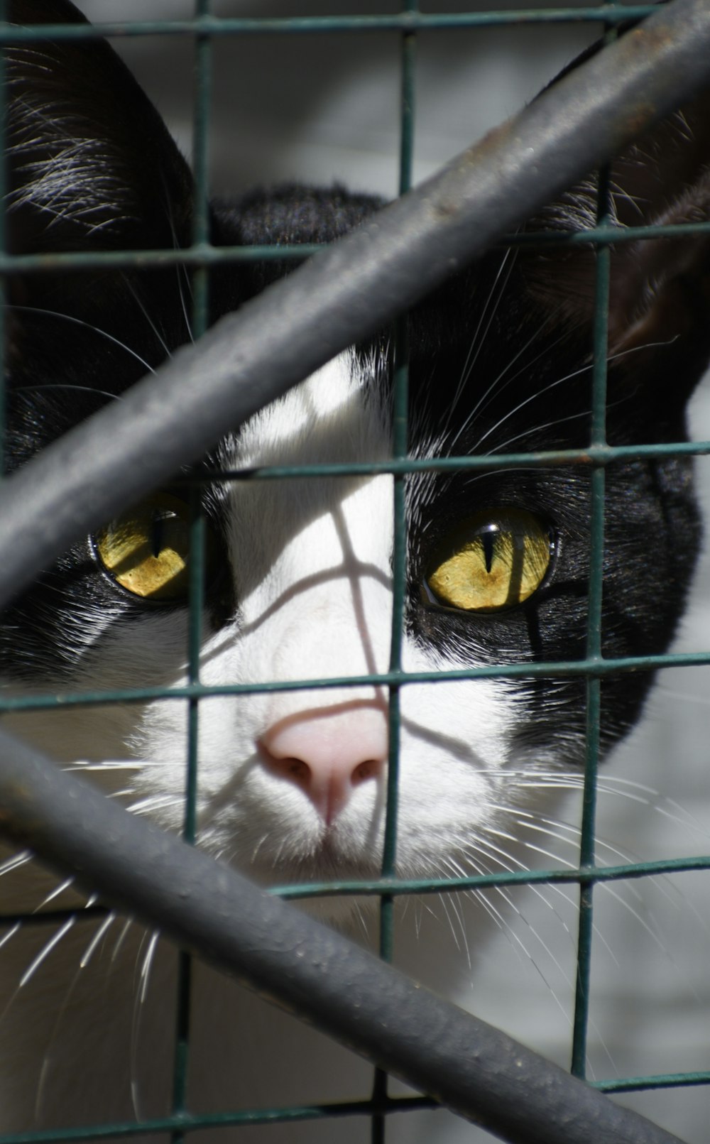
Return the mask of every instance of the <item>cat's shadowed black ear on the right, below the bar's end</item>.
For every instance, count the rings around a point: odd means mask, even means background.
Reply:
[[[621,228],[710,220],[710,93],[661,120],[611,167],[612,221]],[[579,184],[526,230],[593,227],[597,186]],[[528,297],[557,327],[591,337],[591,247],[522,255]],[[649,399],[685,402],[710,359],[710,236],[622,240],[613,247],[608,352],[615,381]],[[654,394],[654,387],[657,392]]]

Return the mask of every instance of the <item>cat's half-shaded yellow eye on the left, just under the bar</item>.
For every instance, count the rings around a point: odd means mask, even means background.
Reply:
[[[190,508],[155,493],[97,532],[94,548],[109,575],[144,599],[184,599],[189,586]],[[214,555],[208,533],[206,558]]]

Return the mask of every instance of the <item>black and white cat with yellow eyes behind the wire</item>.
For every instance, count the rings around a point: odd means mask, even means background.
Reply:
[[[82,17],[67,0],[14,0],[10,18]],[[106,43],[14,46],[8,69],[14,251],[190,245],[186,165]],[[620,227],[708,216],[709,121],[701,102],[686,108],[615,165]],[[213,204],[212,241],[327,241],[376,206],[340,188],[256,191]],[[593,219],[590,183],[529,229],[579,230]],[[705,265],[699,237],[619,244],[609,320],[612,444],[685,438],[686,402],[710,357]],[[282,272],[266,262],[213,270],[210,319]],[[408,319],[412,455],[583,447],[593,280],[593,255],[583,247],[496,251],[422,303]],[[10,303],[9,468],[120,399],[191,339],[190,279],[175,268],[18,275]],[[194,471],[386,460],[389,343],[384,332],[343,353],[225,437]],[[388,669],[391,477],[222,479],[204,487],[202,683]],[[587,468],[413,475],[407,501],[406,670],[583,658]],[[176,477],[64,554],[3,617],[6,689],[73,693],[185,682],[188,523]],[[688,466],[677,459],[609,464],[605,530],[604,653],[662,651],[699,547]],[[605,750],[633,725],[648,684],[647,673],[605,683]],[[584,696],[584,682],[574,677],[402,688],[398,872],[438,877],[514,864],[519,813],[549,807],[559,789],[579,785]],[[264,884],[376,876],[386,709],[383,688],[204,700],[200,845]],[[135,812],[182,828],[182,701],[51,709],[6,716],[6,723],[59,763],[90,773]],[[73,900],[24,855],[8,852],[0,887],[6,913]],[[465,908],[471,924],[482,927],[497,907],[473,900],[452,908]],[[362,909],[349,899],[319,906],[334,923],[372,935],[375,914]],[[447,951],[438,948],[445,939],[426,913],[410,907],[402,927],[428,922],[412,956],[426,962],[433,951],[448,984]],[[0,944],[0,1128],[166,1113],[174,976],[170,951],[112,915],[49,930],[8,927]],[[367,1093],[353,1058],[199,968],[193,1011],[193,1111]],[[350,1130],[353,1141],[368,1138],[364,1121]],[[415,1138],[414,1129],[400,1131]],[[430,1126],[423,1131],[431,1138]],[[249,1133],[263,1141],[329,1138],[327,1126],[312,1123],[247,1129],[238,1138]],[[338,1138],[345,1138],[340,1127]]]

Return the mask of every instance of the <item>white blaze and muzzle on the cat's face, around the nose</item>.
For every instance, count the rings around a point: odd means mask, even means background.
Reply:
[[[224,463],[385,459],[388,414],[367,380],[354,357],[342,355],[254,418],[225,447]],[[385,672],[392,478],[245,480],[225,496],[239,614],[206,641],[201,681],[222,686]],[[119,635],[117,645],[135,638]],[[150,620],[142,638],[155,646]],[[115,653],[125,659],[126,646]],[[402,660],[409,670],[448,666],[406,635]],[[386,689],[360,685],[202,701],[202,844],[269,881],[322,875],[334,861],[341,874],[375,874],[386,710]],[[492,823],[512,714],[504,688],[488,681],[405,686],[401,713],[398,859],[402,872],[441,873],[452,840]],[[180,827],[180,802],[165,805],[163,796],[183,788],[183,705],[147,705],[129,741],[138,758],[150,760],[130,776],[133,789],[154,796],[153,817]]]

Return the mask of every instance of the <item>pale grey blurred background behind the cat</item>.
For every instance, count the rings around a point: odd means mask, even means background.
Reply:
[[[80,0],[95,22],[180,18],[189,0]],[[492,7],[492,6],[489,6]],[[498,3],[496,11],[512,8]],[[518,6],[519,7],[519,6]],[[553,8],[556,5],[549,5]],[[567,2],[567,11],[580,5]],[[436,3],[428,11],[482,10]],[[214,0],[224,16],[361,15],[394,3],[350,0]],[[415,181],[516,112],[600,31],[571,21],[519,27],[458,29],[417,35]],[[114,41],[165,116],[185,153],[191,148],[193,42],[188,35]],[[397,32],[248,34],[214,43],[212,181],[221,196],[297,178],[343,182],[353,190],[397,192],[400,38]],[[710,387],[697,395],[692,432],[710,438]],[[710,515],[710,469],[697,461]],[[653,558],[653,554],[649,554]],[[710,565],[699,569],[677,650],[710,648]],[[646,717],[604,770],[599,861],[680,857],[710,851],[708,782],[709,669],[659,677]],[[574,824],[541,836],[540,853],[576,863]],[[514,898],[510,928],[474,951],[458,1001],[568,1066],[576,909],[572,890],[542,888]],[[596,945],[589,1075],[613,1078],[710,1068],[708,974],[710,875],[680,874],[596,891]],[[705,1144],[710,1089],[628,1095],[632,1104],[688,1144]],[[482,1144],[490,1137],[433,1113],[417,1126],[396,1118],[392,1139]],[[406,1126],[404,1121],[407,1121]],[[401,1135],[400,1135],[401,1134]],[[388,1141],[390,1134],[388,1133]]]

